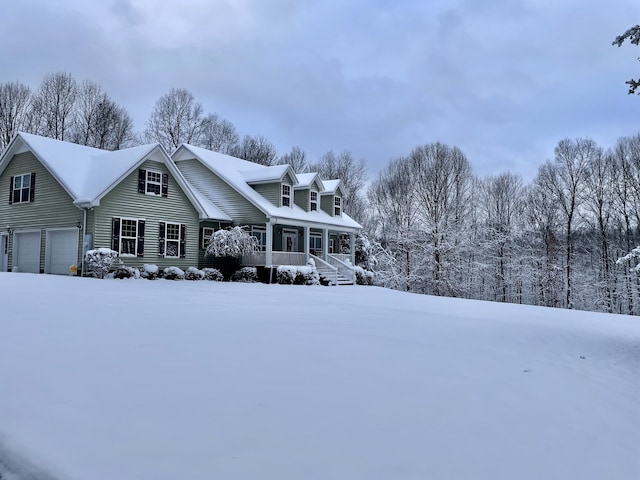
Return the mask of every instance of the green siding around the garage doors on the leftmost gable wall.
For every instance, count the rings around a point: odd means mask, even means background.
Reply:
[[[9,185],[12,176],[35,172],[33,202],[9,205]],[[40,271],[45,263],[45,231],[49,228],[76,227],[83,221],[83,212],[73,205],[73,199],[31,152],[18,153],[0,175],[0,228],[11,226],[14,231],[40,230]],[[13,261],[13,235],[9,236],[9,269]],[[78,242],[78,261],[82,242]]]

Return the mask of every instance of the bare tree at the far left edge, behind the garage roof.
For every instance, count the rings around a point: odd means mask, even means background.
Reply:
[[[31,89],[19,82],[0,84],[0,152],[19,131],[28,131]]]

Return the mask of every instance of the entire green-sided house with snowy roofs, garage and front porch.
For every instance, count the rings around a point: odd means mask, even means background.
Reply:
[[[0,271],[69,274],[108,247],[130,266],[200,268],[220,228],[246,227],[260,251],[243,265],[304,265],[354,279],[355,234],[340,180],[182,145],[105,151],[26,133],[0,157]],[[350,245],[341,254],[340,242]]]

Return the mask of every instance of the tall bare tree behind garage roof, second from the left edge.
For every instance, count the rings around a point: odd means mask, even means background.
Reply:
[[[47,75],[33,99],[36,133],[56,140],[67,139],[77,94],[78,85],[70,73]]]

